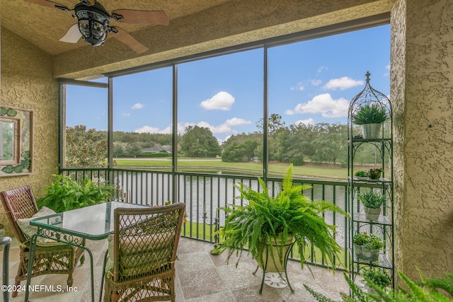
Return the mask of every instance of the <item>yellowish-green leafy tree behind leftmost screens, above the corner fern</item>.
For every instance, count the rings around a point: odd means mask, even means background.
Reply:
[[[66,127],[66,168],[105,167],[107,158],[107,138],[96,129],[86,130],[86,126]]]

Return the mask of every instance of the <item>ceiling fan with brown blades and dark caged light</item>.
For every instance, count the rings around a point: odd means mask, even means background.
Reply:
[[[130,33],[117,26],[111,26],[110,20],[122,23],[168,25],[168,17],[164,11],[135,11],[132,9],[117,9],[110,15],[96,0],[80,0],[74,8],[68,8],[49,0],[25,0],[62,11],[73,11],[73,18],[78,20],[60,39],[62,42],[76,43],[80,38],[89,45],[96,47],[104,45],[108,33],[125,43],[137,53],[146,52],[148,47],[138,42]]]

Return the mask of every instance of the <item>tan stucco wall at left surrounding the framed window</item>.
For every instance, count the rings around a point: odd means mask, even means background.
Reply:
[[[0,178],[0,191],[31,185],[44,194],[58,173],[58,83],[52,78],[52,57],[1,28],[0,104],[34,111],[33,175]],[[0,223],[7,225],[4,210]],[[11,235],[7,226],[6,233]]]

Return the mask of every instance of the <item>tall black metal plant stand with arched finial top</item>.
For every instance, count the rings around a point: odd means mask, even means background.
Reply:
[[[348,243],[350,255],[350,277],[355,280],[364,268],[376,267],[382,269],[391,277],[391,286],[394,288],[394,165],[393,165],[393,127],[392,110],[389,98],[369,85],[369,72],[366,74],[367,83],[365,88],[352,98],[348,112],[348,211],[350,220],[348,229],[350,240]],[[381,126],[379,137],[367,138],[361,134],[360,127],[354,123],[358,110],[364,106],[384,108],[387,120]],[[374,146],[377,158],[377,166],[382,175],[378,179],[357,178],[355,172],[360,170],[357,165],[356,152],[366,146]],[[369,220],[365,215],[364,207],[357,201],[360,191],[374,190],[384,195],[386,201],[382,205],[382,211],[377,220]],[[379,250],[379,260],[368,261],[363,257],[357,257],[357,251],[353,243],[357,233],[367,232],[379,237],[384,247]],[[357,247],[356,247],[357,248]]]

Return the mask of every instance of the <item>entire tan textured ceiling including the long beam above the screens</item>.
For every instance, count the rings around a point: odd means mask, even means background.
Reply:
[[[29,0],[42,1],[42,0]],[[108,13],[117,9],[163,10],[169,25],[137,25],[111,21],[146,46],[137,53],[110,34],[103,47],[82,39],[60,42],[76,23],[71,12],[30,3],[0,0],[1,27],[52,56],[55,78],[93,79],[108,73],[156,62],[226,49],[272,37],[306,33],[352,21],[348,30],[363,25],[360,18],[388,13],[395,0],[101,0]],[[80,0],[53,0],[74,8]],[[45,2],[47,3],[47,2]],[[384,22],[389,15],[384,16]],[[379,23],[382,18],[372,21]],[[338,27],[337,27],[338,25]]]

